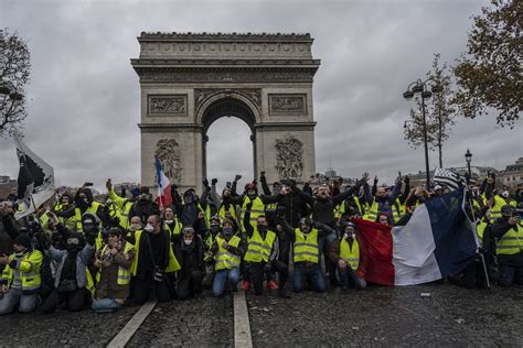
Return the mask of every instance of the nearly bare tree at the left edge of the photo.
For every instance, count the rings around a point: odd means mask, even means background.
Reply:
[[[0,137],[15,133],[28,116],[24,86],[31,70],[28,44],[0,30]]]

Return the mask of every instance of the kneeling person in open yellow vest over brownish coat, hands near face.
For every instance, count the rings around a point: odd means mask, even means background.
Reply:
[[[119,309],[129,296],[130,267],[135,246],[121,238],[119,228],[109,230],[108,244],[96,254],[96,296],[92,308],[97,313]]]

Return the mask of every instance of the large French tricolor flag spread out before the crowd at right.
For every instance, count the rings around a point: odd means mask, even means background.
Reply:
[[[479,248],[476,226],[465,214],[465,189],[428,199],[405,226],[354,222],[361,248],[357,274],[377,284],[415,285],[456,274]]]

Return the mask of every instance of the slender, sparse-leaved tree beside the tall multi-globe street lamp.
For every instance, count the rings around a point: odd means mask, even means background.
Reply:
[[[440,65],[439,58],[439,53],[434,55],[433,69],[427,72],[426,76],[435,85],[438,85],[441,91],[434,93],[430,102],[426,102],[425,118],[427,123],[427,143],[433,151],[438,150],[439,166],[442,167],[442,145],[448,140],[451,128],[455,124],[455,108],[449,67],[447,63]],[[404,126],[404,138],[414,149],[424,144],[421,101],[419,98],[416,97],[417,109],[410,110],[410,119]]]

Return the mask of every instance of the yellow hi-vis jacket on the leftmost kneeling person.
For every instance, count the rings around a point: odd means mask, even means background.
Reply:
[[[9,257],[9,262],[14,260],[14,254]],[[42,285],[40,278],[40,267],[42,265],[43,255],[38,250],[32,250],[23,255],[20,262],[19,272],[22,280],[22,293],[25,295],[36,294]],[[6,264],[0,281],[6,282],[8,287],[12,285],[14,275],[9,264]]]

